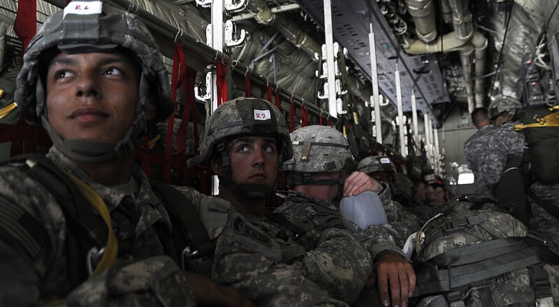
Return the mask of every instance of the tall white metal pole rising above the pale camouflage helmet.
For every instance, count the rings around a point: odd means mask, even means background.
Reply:
[[[337,117],[331,0],[324,0],[324,38],[326,41],[326,67],[328,67],[328,112],[331,117]]]

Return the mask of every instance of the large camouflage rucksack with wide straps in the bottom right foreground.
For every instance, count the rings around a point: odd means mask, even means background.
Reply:
[[[553,306],[559,253],[509,214],[465,210],[423,227],[414,306]]]

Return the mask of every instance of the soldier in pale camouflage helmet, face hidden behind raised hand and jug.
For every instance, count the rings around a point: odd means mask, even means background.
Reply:
[[[332,202],[337,195],[348,197],[365,190],[381,192],[383,186],[363,172],[345,178],[343,169],[351,152],[344,135],[335,128],[299,128],[291,133],[291,144],[293,158],[283,165],[289,171],[291,190],[284,193],[285,202],[275,212],[296,224],[310,224],[319,230],[349,230],[372,256],[375,271],[369,285],[376,280],[382,304],[389,306],[391,301],[393,306],[405,306],[414,291],[415,275],[402,250],[388,234],[372,228],[375,225],[365,231],[343,218]]]

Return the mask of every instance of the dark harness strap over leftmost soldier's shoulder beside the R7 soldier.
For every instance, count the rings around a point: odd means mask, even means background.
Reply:
[[[176,229],[173,229],[172,235],[177,252],[182,251],[182,255],[177,255],[180,257],[177,264],[193,273],[208,276],[215,252],[215,243],[210,241],[208,232],[198,218],[196,206],[186,195],[172,186],[154,180],[150,180],[150,183],[154,193],[164,203],[172,225],[180,225],[183,235]],[[173,221],[177,223],[173,223]]]

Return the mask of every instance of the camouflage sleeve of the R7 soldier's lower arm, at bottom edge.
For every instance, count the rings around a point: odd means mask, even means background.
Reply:
[[[257,306],[347,306],[307,278],[303,262],[282,264],[277,246],[229,230],[217,242],[212,269],[217,283],[240,290]]]

